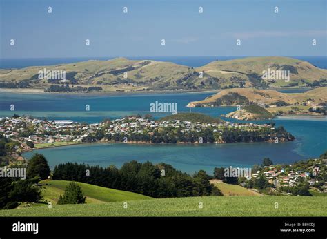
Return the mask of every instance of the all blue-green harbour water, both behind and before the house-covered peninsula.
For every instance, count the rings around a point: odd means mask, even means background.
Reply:
[[[197,101],[212,93],[184,94],[138,94],[138,95],[68,95],[68,94],[0,94],[0,116],[12,115],[6,110],[13,103],[17,114],[30,114],[48,119],[71,119],[73,121],[99,122],[103,118],[121,118],[130,114],[147,114],[151,102],[176,102],[179,112],[188,112],[185,107],[190,101]],[[90,104],[91,111],[83,111]],[[195,108],[192,112],[202,112],[219,116],[235,110],[235,107]],[[154,114],[156,118],[165,114]],[[236,121],[224,118],[228,121]],[[96,143],[72,145],[50,149],[39,149],[48,158],[50,167],[67,161],[89,163],[107,167],[120,167],[130,160],[153,163],[165,162],[184,172],[214,167],[250,167],[270,157],[275,163],[293,163],[295,160],[317,157],[327,149],[326,116],[291,116],[273,120],[277,126],[283,125],[296,140],[288,143],[239,143],[223,145],[126,145]],[[253,121],[254,122],[254,121]],[[268,121],[256,121],[266,123]],[[29,158],[34,152],[24,154]]]

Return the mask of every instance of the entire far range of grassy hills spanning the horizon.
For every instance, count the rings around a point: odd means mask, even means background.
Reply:
[[[47,89],[61,85],[58,79],[40,79],[39,71],[66,71],[66,80],[75,89],[102,87],[103,91],[218,90],[226,87],[304,87],[326,85],[327,70],[306,61],[286,57],[249,57],[213,61],[202,67],[170,62],[129,60],[83,61],[22,69],[0,70],[0,88]],[[290,81],[261,79],[264,70],[290,70]],[[60,79],[61,80],[61,79]]]

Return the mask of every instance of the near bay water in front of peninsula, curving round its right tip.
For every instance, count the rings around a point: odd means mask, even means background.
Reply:
[[[326,118],[320,121],[275,120],[295,135],[296,141],[287,143],[237,143],[208,145],[144,145],[123,143],[93,143],[72,145],[37,152],[48,158],[50,167],[67,161],[120,167],[130,160],[169,163],[184,172],[214,167],[251,167],[264,157],[274,163],[293,163],[295,160],[319,156],[327,149]],[[24,154],[27,158],[34,152]]]

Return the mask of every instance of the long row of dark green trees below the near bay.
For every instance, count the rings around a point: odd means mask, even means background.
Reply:
[[[190,176],[165,163],[130,161],[121,169],[62,163],[54,168],[53,179],[90,183],[154,198],[221,195],[219,189],[209,183],[205,171]]]

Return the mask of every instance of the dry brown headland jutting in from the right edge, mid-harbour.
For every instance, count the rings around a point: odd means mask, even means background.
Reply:
[[[225,89],[201,101],[192,101],[188,107],[238,106],[227,117],[244,120],[269,119],[284,114],[324,115],[327,87],[304,93],[286,94],[276,90],[254,88]],[[255,106],[256,105],[256,106]]]

